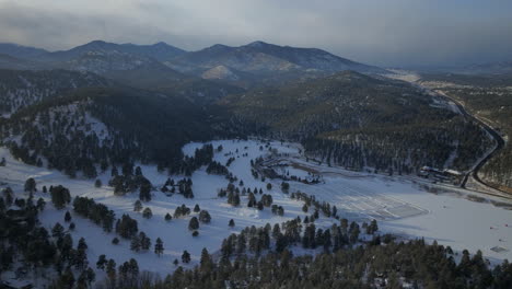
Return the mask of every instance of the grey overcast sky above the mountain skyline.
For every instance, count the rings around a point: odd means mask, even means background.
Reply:
[[[265,41],[380,66],[512,60],[511,0],[0,0],[0,42]]]

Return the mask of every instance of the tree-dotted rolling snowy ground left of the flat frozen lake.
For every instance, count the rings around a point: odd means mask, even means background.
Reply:
[[[266,150],[260,151],[259,146],[256,141],[216,141],[213,144],[217,146],[222,143],[224,150],[220,153],[216,153],[214,159],[221,163],[225,163],[229,158],[235,157],[236,160],[231,164],[229,170],[238,176],[238,180],[243,180],[246,187],[263,188],[266,194],[265,186],[258,180],[254,180],[251,174],[251,159],[267,153]],[[185,152],[194,153],[195,148],[201,147],[201,143],[190,143],[184,148]],[[272,143],[278,146],[278,142]],[[248,147],[247,150],[244,148]],[[240,153],[235,153],[238,149]],[[290,151],[290,148],[280,147],[280,151]],[[233,152],[231,155],[224,155],[224,153]],[[248,153],[249,157],[242,157],[243,153]],[[51,206],[49,194],[43,194],[42,187],[46,185],[63,185],[70,189],[71,196],[85,196],[94,198],[96,203],[102,203],[113,209],[116,213],[116,218],[120,218],[123,213],[129,213],[130,217],[137,219],[139,224],[139,231],[146,232],[152,241],[152,247],[156,238],[161,238],[165,252],[161,257],[158,257],[153,250],[146,253],[133,253],[129,250],[129,240],[120,239],[119,245],[113,245],[112,239],[116,236],[115,233],[105,233],[103,230],[92,223],[90,220],[84,219],[72,211],[72,206],[68,206],[68,210],[71,212],[75,222],[77,229],[72,232],[74,244],[78,240],[83,236],[89,245],[88,257],[93,268],[95,268],[95,262],[101,254],[106,254],[107,258],[114,258],[117,265],[135,257],[141,270],[150,270],[159,273],[162,277],[166,274],[172,273],[176,267],[173,265],[173,261],[177,258],[181,262],[181,256],[184,250],[187,250],[191,254],[193,262],[185,267],[191,268],[198,264],[200,253],[203,247],[207,247],[210,253],[214,253],[221,246],[222,240],[228,238],[231,233],[237,233],[245,227],[256,226],[264,227],[267,222],[276,223],[306,216],[302,211],[302,201],[292,200],[287,195],[281,193],[279,189],[279,183],[276,183],[275,188],[270,190],[274,204],[282,206],[284,208],[284,216],[279,217],[272,215],[270,208],[265,208],[259,211],[255,208],[247,208],[246,197],[242,197],[240,207],[232,207],[226,204],[226,198],[219,199],[217,197],[218,189],[228,185],[228,180],[223,176],[208,175],[205,172],[205,167],[195,172],[193,175],[193,190],[195,198],[186,199],[181,195],[175,194],[172,197],[165,196],[161,192],[153,192],[153,198],[150,203],[143,204],[144,207],[150,207],[153,212],[152,219],[144,219],[139,212],[133,212],[133,203],[138,199],[138,193],[127,194],[126,196],[115,196],[112,187],[106,186],[109,180],[109,170],[107,173],[100,176],[104,186],[102,188],[94,187],[93,180],[75,178],[70,180],[66,175],[55,170],[47,170],[36,166],[30,166],[23,164],[16,160],[13,160],[12,155],[5,148],[0,148],[0,159],[4,157],[7,159],[7,166],[0,166],[0,188],[7,185],[11,186],[16,195],[24,195],[23,185],[26,178],[34,177],[37,183],[39,192],[35,195],[35,199],[43,197],[47,201],[46,209],[39,215],[39,219],[43,224],[50,230],[56,222],[60,222],[66,227],[63,222],[63,216],[66,209],[56,210]],[[240,158],[237,158],[240,157]],[[155,165],[141,165],[142,172],[152,184],[156,187],[161,187],[168,175],[166,173],[159,173]],[[172,176],[175,181],[183,178],[184,176]],[[3,183],[3,184],[2,184]],[[260,195],[256,196],[257,199]],[[171,222],[164,220],[165,213],[170,212],[173,215],[176,207],[185,204],[190,209],[196,204],[201,209],[206,209],[212,217],[211,223],[200,224],[199,236],[191,236],[191,232],[188,230],[188,222],[193,216],[183,219],[173,219]],[[229,228],[228,223],[230,219],[234,219],[235,227]],[[319,219],[319,226],[329,226],[327,219]],[[179,264],[183,265],[183,264]],[[101,279],[103,274],[97,271],[98,276],[96,279]]]

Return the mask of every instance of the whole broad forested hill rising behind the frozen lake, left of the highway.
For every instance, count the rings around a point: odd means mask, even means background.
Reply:
[[[322,160],[357,170],[467,170],[491,146],[476,123],[426,92],[350,71],[222,103],[259,134],[301,141]]]

